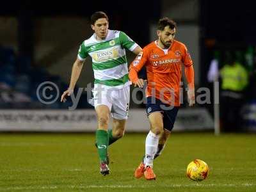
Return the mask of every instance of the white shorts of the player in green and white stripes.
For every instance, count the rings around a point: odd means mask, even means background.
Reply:
[[[93,88],[93,99],[90,102],[94,108],[99,105],[106,105],[111,112],[111,116],[118,120],[128,118],[130,102],[130,86],[121,89],[109,90],[107,88]]]

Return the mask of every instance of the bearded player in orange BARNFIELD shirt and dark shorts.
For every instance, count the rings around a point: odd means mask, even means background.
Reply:
[[[174,40],[176,23],[164,17],[158,22],[158,40],[148,44],[131,63],[129,78],[135,86],[142,88],[145,80],[138,72],[147,68],[146,111],[150,131],[145,141],[145,156],[134,176],[156,179],[153,172],[154,158],[159,156],[172,131],[180,106],[180,82],[182,65],[188,81],[189,106],[195,104],[193,62],[186,45]]]

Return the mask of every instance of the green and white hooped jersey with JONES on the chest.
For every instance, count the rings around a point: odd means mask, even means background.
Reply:
[[[95,33],[80,45],[77,57],[92,57],[94,84],[120,89],[131,84],[128,78],[125,49],[133,51],[138,45],[122,31],[108,30],[105,40],[98,41]]]

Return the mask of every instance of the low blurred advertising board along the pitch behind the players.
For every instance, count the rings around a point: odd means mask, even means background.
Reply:
[[[94,109],[85,110],[0,110],[0,131],[93,132],[97,126]],[[109,127],[111,124],[109,125]],[[147,132],[144,109],[131,109],[127,132]],[[180,109],[173,131],[213,129],[213,121],[204,108]]]

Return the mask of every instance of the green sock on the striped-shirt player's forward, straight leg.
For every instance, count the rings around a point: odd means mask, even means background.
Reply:
[[[97,130],[96,141],[100,162],[106,161],[108,154],[108,131]]]

